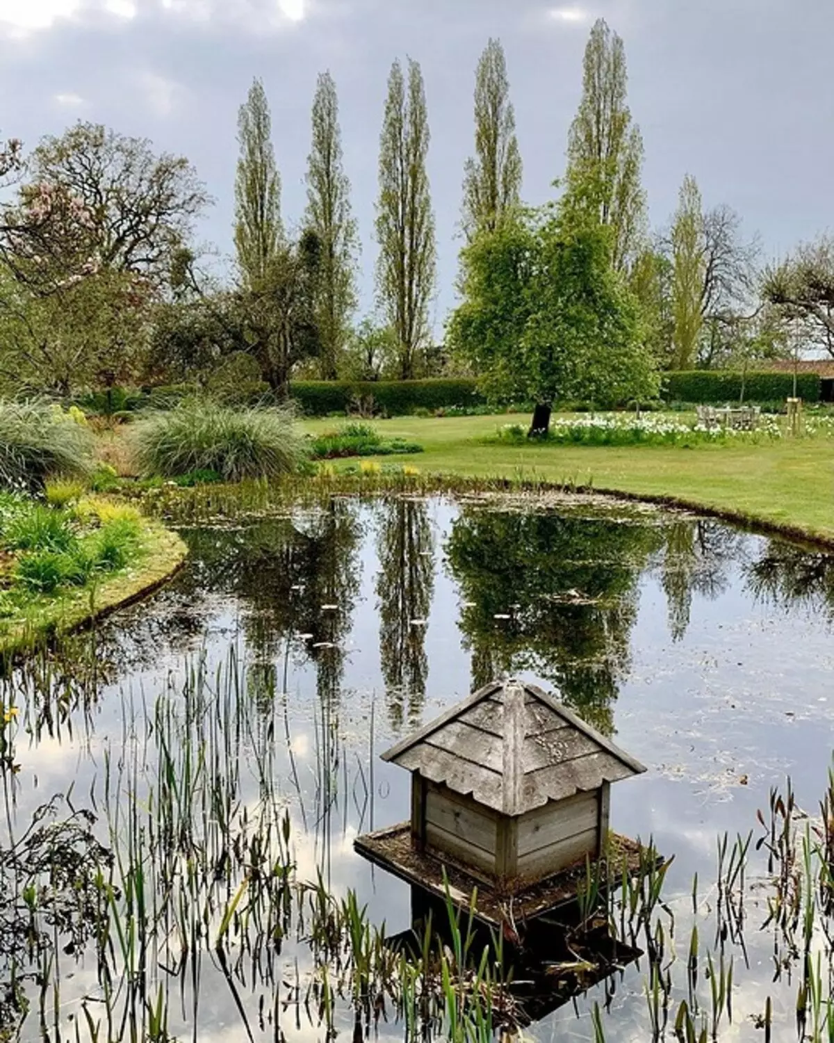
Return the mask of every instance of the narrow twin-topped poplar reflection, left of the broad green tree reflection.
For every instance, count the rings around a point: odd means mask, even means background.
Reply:
[[[391,499],[382,505],[377,553],[383,678],[391,724],[398,728],[407,703],[409,718],[420,717],[428,676],[423,621],[435,589],[435,541],[425,503]]]

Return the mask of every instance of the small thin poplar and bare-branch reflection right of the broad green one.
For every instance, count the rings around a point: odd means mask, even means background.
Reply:
[[[708,518],[672,522],[664,528],[660,581],[666,595],[672,640],[689,628],[692,598],[713,601],[730,582],[730,565],[743,558],[743,533]]]

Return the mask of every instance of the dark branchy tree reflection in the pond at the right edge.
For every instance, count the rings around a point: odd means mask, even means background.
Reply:
[[[834,621],[834,555],[771,539],[747,564],[745,578],[760,601],[785,609],[803,605]]]

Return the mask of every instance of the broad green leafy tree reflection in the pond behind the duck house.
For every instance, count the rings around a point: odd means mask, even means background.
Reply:
[[[530,671],[610,733],[637,580],[660,539],[656,528],[613,518],[465,509],[446,553],[473,686]]]

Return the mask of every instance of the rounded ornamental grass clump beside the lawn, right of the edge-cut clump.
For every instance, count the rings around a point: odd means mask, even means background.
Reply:
[[[288,410],[235,409],[208,401],[185,402],[141,421],[133,451],[145,477],[213,471],[224,482],[278,478],[298,470],[305,459]]]

